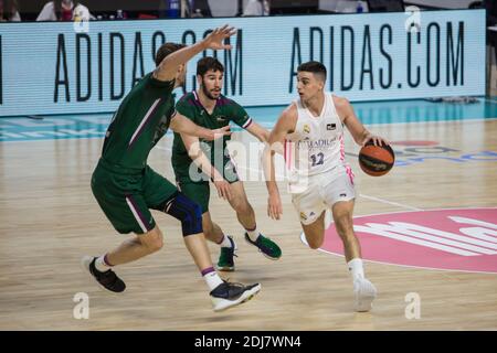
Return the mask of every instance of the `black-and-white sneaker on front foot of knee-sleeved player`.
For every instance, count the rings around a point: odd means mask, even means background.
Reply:
[[[213,309],[214,311],[223,311],[241,304],[251,300],[260,290],[260,284],[244,286],[223,281],[210,292]]]

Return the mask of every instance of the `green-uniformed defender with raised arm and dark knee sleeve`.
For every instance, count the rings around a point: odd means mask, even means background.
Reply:
[[[168,127],[207,140],[229,133],[229,129],[201,128],[178,114],[172,89],[184,83],[186,65],[191,57],[208,49],[230,49],[223,41],[234,33],[225,25],[187,47],[163,44],[157,52],[157,68],[131,88],[113,117],[102,158],[92,175],[92,191],[115,229],[136,236],[99,257],[85,256],[82,260],[86,270],[109,291],[121,292],[126,288],[110,269],[113,266],[137,260],[162,247],[162,233],[150,208],[181,222],[184,243],[210,289],[214,311],[242,303],[261,289],[258,284],[243,286],[219,277],[202,233],[200,205],[147,165],[151,148]]]

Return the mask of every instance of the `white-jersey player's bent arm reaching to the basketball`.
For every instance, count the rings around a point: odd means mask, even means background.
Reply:
[[[385,139],[379,136],[374,136],[370,131],[368,131],[368,129],[356,116],[353,107],[347,98],[334,96],[334,103],[338,116],[340,117],[347,129],[350,131],[350,135],[352,135],[356,143],[364,146],[369,141],[373,141],[374,146],[389,145]]]

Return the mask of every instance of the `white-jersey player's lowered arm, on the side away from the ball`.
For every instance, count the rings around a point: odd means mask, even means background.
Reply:
[[[273,220],[279,220],[279,215],[283,214],[282,199],[276,183],[274,153],[284,153],[286,136],[295,130],[296,124],[297,109],[292,105],[282,113],[276,126],[269,133],[263,152],[263,169],[268,193],[267,215]]]

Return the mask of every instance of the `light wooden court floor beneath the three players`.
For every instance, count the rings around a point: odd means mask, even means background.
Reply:
[[[432,140],[457,153],[497,151],[497,120],[370,127],[390,140]],[[239,135],[248,141],[246,135]],[[149,162],[172,179],[170,137]],[[352,311],[352,287],[341,257],[306,248],[281,184],[284,215],[266,216],[262,181],[245,183],[258,228],[283,249],[271,261],[244,243],[242,227],[212,190],[213,218],[239,243],[237,270],[223,275],[262,284],[252,301],[211,310],[207,286],[182,243],[179,224],[160,213],[165,248],[117,269],[125,293],[102,291],[80,268],[126,236],[116,235],[89,190],[101,139],[0,142],[0,330],[496,330],[497,276],[367,263],[379,297],[369,313]],[[347,136],[346,150],[358,148]],[[348,157],[360,196],[356,215],[444,207],[496,206],[497,162],[426,160],[390,174],[363,174]],[[339,239],[336,239],[339,242]],[[210,246],[213,260],[219,249]],[[87,293],[89,318],[73,317],[76,293]],[[421,318],[408,320],[408,292],[421,298]]]

